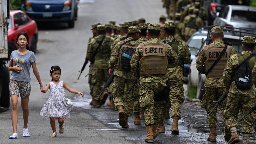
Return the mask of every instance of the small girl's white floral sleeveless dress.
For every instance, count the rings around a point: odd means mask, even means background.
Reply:
[[[58,84],[50,82],[50,96],[45,102],[40,115],[45,117],[69,118],[74,104],[65,97],[63,81]]]

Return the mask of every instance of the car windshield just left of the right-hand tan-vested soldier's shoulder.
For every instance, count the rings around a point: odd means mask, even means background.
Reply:
[[[187,45],[189,45],[189,49],[192,55],[197,55],[199,49],[202,45],[202,39],[203,42],[207,38],[207,36],[193,36],[188,42]]]

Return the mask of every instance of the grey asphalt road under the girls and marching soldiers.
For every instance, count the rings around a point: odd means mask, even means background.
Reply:
[[[158,22],[160,14],[165,14],[161,0],[80,0],[78,20],[75,28],[67,28],[66,23],[40,23],[38,51],[36,53],[37,67],[43,85],[51,80],[49,69],[52,65],[59,65],[62,69],[61,80],[78,91],[85,94],[84,98],[66,91],[66,97],[71,98],[75,104],[71,112],[71,118],[65,119],[63,135],[57,134],[56,138],[50,138],[52,133],[49,118],[39,115],[40,110],[48,99],[46,94],[40,93],[39,84],[31,69],[31,94],[29,102],[30,138],[22,137],[22,110],[18,114],[17,140],[9,140],[12,134],[11,110],[1,113],[0,143],[26,143],[26,144],[141,144],[146,137],[145,126],[133,125],[133,117],[129,118],[129,129],[123,129],[118,125],[117,111],[111,111],[106,105],[101,108],[89,106],[88,79],[84,76],[88,72],[88,66],[84,70],[79,81],[78,70],[81,69],[88,38],[91,36],[91,24],[95,22],[107,23],[115,20],[118,23],[131,21],[145,17],[147,22]],[[19,103],[20,104],[20,103]],[[179,121],[185,123],[184,121]],[[206,144],[207,133],[188,132],[193,131],[187,127],[180,127],[180,135],[171,135],[171,120],[166,120],[166,133],[159,134],[155,143],[175,144]],[[56,123],[56,127],[58,124]],[[58,132],[58,131],[57,131]],[[216,144],[224,144],[223,135],[218,135]]]

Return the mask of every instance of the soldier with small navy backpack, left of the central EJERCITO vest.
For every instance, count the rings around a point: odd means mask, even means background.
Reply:
[[[128,28],[128,38],[118,42],[112,50],[109,64],[109,73],[112,73],[112,67],[115,67],[112,96],[115,103],[115,107],[118,109],[119,124],[123,128],[128,128],[128,117],[132,115],[134,101],[139,98],[138,87],[134,87],[128,94],[124,93],[125,85],[127,89],[131,89],[133,80],[136,79],[131,73],[130,68],[126,69],[122,65],[122,55],[128,48],[135,50],[138,46],[137,40],[139,39],[139,30],[136,26],[130,26]],[[128,57],[128,56],[126,56]],[[124,94],[126,98],[123,99]],[[140,121],[139,121],[140,122]]]

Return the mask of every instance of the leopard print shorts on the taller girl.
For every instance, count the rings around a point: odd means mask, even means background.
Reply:
[[[16,80],[10,80],[9,83],[9,90],[10,95],[17,95],[21,98],[29,98],[29,94],[31,91],[30,82],[23,82],[23,81],[16,81]]]

